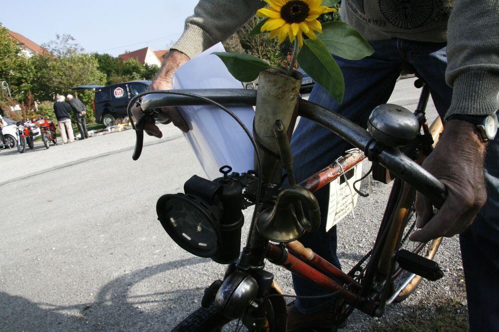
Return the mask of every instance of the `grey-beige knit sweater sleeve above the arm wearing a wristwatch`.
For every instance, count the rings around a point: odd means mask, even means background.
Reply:
[[[499,108],[499,1],[456,0],[449,18],[447,83],[452,114],[487,115]]]

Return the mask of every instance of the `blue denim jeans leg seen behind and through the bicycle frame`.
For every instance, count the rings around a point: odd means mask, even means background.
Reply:
[[[350,120],[366,126],[371,110],[385,103],[390,97],[400,70],[395,40],[371,43],[375,53],[360,61],[336,58],[345,78],[343,103],[336,103],[318,84],[310,94],[309,100],[338,112]],[[300,119],[291,140],[294,159],[294,174],[301,181],[331,164],[343,154],[347,144],[338,136],[323,127]],[[314,194],[321,207],[321,227],[313,233],[306,233],[300,241],[321,257],[340,267],[336,257],[336,228],[325,232],[329,186]],[[317,287],[306,279],[293,275],[294,290],[297,295],[323,295],[328,291]],[[311,313],[331,305],[333,298],[297,299],[296,308],[302,313]]]

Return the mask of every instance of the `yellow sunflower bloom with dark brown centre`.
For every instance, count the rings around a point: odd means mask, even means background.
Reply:
[[[269,7],[256,11],[260,17],[268,17],[261,26],[261,32],[270,31],[270,39],[278,37],[281,43],[286,37],[291,42],[296,37],[300,47],[303,45],[303,35],[317,39],[315,31],[322,32],[322,26],[317,20],[319,15],[336,11],[321,5],[322,0],[264,0]]]

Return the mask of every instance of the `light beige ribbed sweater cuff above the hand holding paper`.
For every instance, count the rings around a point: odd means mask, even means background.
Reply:
[[[200,42],[193,43],[193,40]],[[171,47],[193,58],[204,50],[212,47],[217,42],[202,28],[194,24],[186,24],[186,28],[179,40]]]

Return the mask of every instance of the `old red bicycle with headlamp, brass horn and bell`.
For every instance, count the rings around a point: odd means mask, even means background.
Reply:
[[[159,220],[177,244],[197,256],[229,264],[224,278],[205,290],[202,308],[173,331],[220,331],[231,321],[237,321],[236,331],[242,327],[241,322],[249,331],[285,331],[284,297],[288,295],[282,294],[273,275],[264,270],[264,259],[331,290],[333,293],[327,297],[337,299],[332,308],[337,324],[354,309],[380,317],[387,305],[405,300],[421,278],[438,280],[443,276],[438,264],[432,261],[442,238],[412,248],[408,246],[408,237],[415,228],[416,190],[429,197],[437,208],[446,197],[445,186],[420,166],[438,141],[443,126],[440,119],[428,126],[425,110],[429,88],[421,79],[416,84],[422,88],[416,111],[381,105],[371,114],[369,132],[339,114],[299,99],[299,116],[328,128],[357,148],[299,184],[295,183],[292,173],[288,131],[277,119],[273,133],[278,154],[259,147],[258,135],[253,139],[245,129],[255,148],[256,170],[230,174],[231,167],[223,166],[220,169],[223,176],[218,179],[210,181],[194,175],[185,183],[185,194],[160,197]],[[137,123],[132,122],[137,134],[133,159],[138,159],[142,151],[144,121],[147,118],[166,121],[158,110],[160,107],[212,104],[231,114],[221,104],[254,105],[256,95],[254,90],[219,89],[154,91],[136,96],[129,104],[129,116],[132,119],[130,110],[136,101],[144,113]],[[395,139],[397,135],[388,135],[400,130],[390,120],[393,113],[403,115],[403,132],[411,132],[413,137],[402,134]],[[254,122],[255,127],[259,125],[258,121]],[[389,175],[395,179],[373,249],[344,273],[304,248],[297,239],[305,231],[317,229],[320,223],[318,204],[311,192],[344,175],[366,158],[373,162],[371,170],[376,168],[378,180],[387,183]],[[262,165],[276,165],[279,161],[281,167],[270,172],[262,169]],[[282,170],[289,182],[285,187],[281,186]],[[256,208],[241,252],[244,223],[241,210],[253,204]],[[303,207],[307,209],[307,217]],[[221,251],[221,247],[224,250]]]

